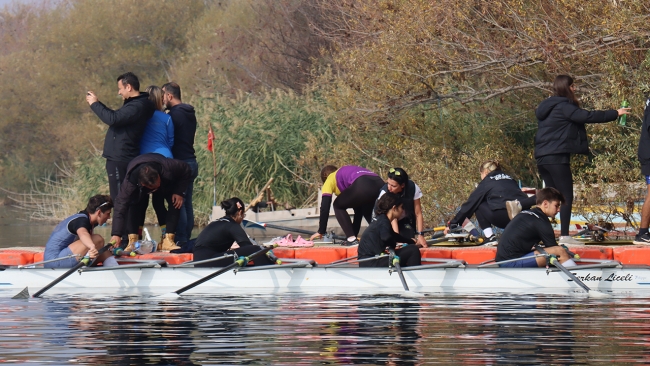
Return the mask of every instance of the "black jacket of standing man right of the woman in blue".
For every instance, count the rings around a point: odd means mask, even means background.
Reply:
[[[174,159],[196,159],[194,155],[194,135],[196,134],[196,114],[189,104],[177,104],[169,109],[169,116],[174,123]]]

